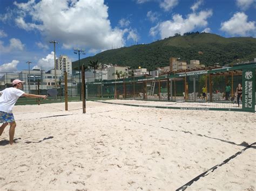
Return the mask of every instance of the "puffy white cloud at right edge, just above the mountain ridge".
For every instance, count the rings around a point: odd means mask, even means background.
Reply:
[[[230,20],[221,23],[221,31],[233,36],[256,35],[255,22],[248,22],[248,16],[244,12],[237,12]]]

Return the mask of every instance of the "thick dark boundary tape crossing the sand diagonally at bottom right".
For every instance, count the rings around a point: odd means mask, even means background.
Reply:
[[[178,189],[176,189],[176,191],[178,191],[178,190],[185,190],[188,186],[191,186],[192,183],[198,181],[200,178],[202,178],[202,177],[204,177],[204,176],[207,176],[207,175],[210,173],[210,171],[211,171],[211,172],[215,171],[215,169],[217,169],[218,167],[220,167],[220,166],[222,166],[222,165],[225,165],[228,161],[230,161],[231,159],[237,157],[237,155],[243,153],[244,151],[246,151],[248,148],[252,147],[252,145],[255,145],[255,144],[256,144],[256,142],[252,143],[251,145],[246,146],[246,147],[243,148],[241,151],[239,151],[239,152],[233,154],[231,157],[229,157],[229,158],[227,158],[226,160],[224,160],[223,162],[221,162],[221,164],[213,166],[212,168],[208,169],[208,170],[205,171],[204,173],[201,173],[200,175],[198,175],[196,178],[194,178],[194,179],[192,179],[191,181],[185,183],[185,185],[179,187]]]

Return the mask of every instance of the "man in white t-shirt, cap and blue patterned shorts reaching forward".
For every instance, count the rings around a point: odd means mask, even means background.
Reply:
[[[0,127],[0,136],[2,135],[4,128],[10,124],[10,131],[9,131],[9,144],[12,145],[14,143],[14,133],[15,133],[15,119],[14,114],[12,114],[12,108],[14,108],[15,103],[17,102],[18,98],[21,96],[31,97],[31,98],[46,98],[46,95],[35,95],[35,94],[26,94],[22,91],[23,81],[21,80],[14,80],[12,81],[11,88],[5,88],[4,90],[0,91],[0,123],[3,123]]]

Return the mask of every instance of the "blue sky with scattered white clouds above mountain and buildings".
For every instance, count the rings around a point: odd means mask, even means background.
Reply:
[[[78,60],[184,32],[256,37],[256,0],[0,0],[0,72],[53,68],[56,55]],[[118,63],[117,63],[118,64]]]

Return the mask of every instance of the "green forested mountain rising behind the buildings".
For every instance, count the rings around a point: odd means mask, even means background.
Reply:
[[[212,66],[214,63],[227,65],[243,60],[256,58],[256,38],[235,37],[224,38],[216,34],[200,33],[186,36],[174,36],[158,40],[151,44],[134,45],[110,49],[80,59],[80,65],[88,66],[90,60],[101,63],[112,63],[119,66],[139,66],[154,70],[156,67],[169,66],[171,57],[180,60],[200,60],[201,64]],[[78,61],[72,62],[72,68],[78,67]]]

